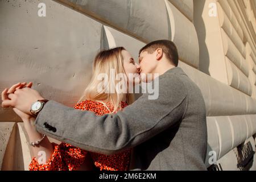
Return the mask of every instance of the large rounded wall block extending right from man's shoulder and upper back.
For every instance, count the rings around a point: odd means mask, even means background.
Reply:
[[[208,116],[256,114],[256,102],[250,96],[181,61],[179,67],[183,68],[184,72],[201,89]],[[205,85],[206,82],[208,85]]]

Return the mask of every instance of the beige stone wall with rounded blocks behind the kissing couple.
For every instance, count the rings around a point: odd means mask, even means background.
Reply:
[[[255,146],[254,0],[40,2],[46,17],[38,16],[39,1],[0,1],[0,90],[32,81],[44,97],[73,106],[101,48],[123,46],[137,58],[146,43],[169,39],[178,48],[179,67],[203,94],[208,152],[216,152],[222,169],[238,169],[236,147]],[[11,109],[0,108],[3,170],[27,170],[31,160],[19,121]]]

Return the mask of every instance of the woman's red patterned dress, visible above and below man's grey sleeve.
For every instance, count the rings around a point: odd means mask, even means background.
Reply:
[[[106,107],[107,106],[107,107]],[[75,105],[75,109],[93,111],[97,115],[104,115],[113,111],[110,104],[102,104],[91,100],[85,100]],[[125,102],[121,103],[122,109],[127,106]],[[108,109],[109,108],[109,109]],[[30,171],[72,171],[77,170],[85,161],[88,151],[74,147],[68,143],[52,143],[54,151],[51,158],[44,164],[39,164],[34,157],[30,163]],[[94,165],[100,170],[108,171],[126,171],[130,162],[131,150],[126,150],[119,154],[102,155],[90,152]]]

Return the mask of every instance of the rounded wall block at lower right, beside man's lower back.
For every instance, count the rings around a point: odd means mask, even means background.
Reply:
[[[256,121],[256,115],[207,117],[208,147],[214,148],[217,159],[256,133],[253,121]]]

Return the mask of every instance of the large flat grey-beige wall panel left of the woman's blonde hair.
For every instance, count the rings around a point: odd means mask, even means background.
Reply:
[[[0,89],[32,81],[44,97],[73,106],[89,82],[102,24],[55,1],[42,1],[47,14],[39,17],[35,2],[0,1]],[[1,109],[4,119],[17,117]]]

